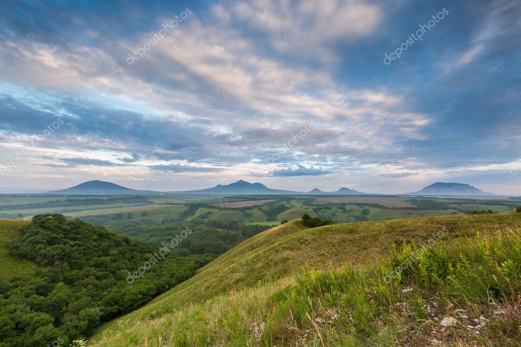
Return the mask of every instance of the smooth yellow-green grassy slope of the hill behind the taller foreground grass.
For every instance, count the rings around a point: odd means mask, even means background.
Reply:
[[[160,295],[140,310],[105,325],[98,330],[93,341],[101,341],[97,343],[99,345],[160,345],[158,340],[154,343],[148,340],[151,336],[157,337],[154,335],[159,333],[154,330],[157,322],[171,323],[172,316],[188,312],[194,315],[192,318],[196,318],[202,315],[208,303],[192,306],[193,303],[210,298],[234,302],[234,295],[243,298],[258,295],[261,298],[259,300],[266,300],[269,293],[293,282],[292,276],[305,264],[320,271],[338,268],[343,264],[375,264],[389,254],[391,245],[401,245],[404,241],[423,242],[441,230],[446,230],[444,240],[450,241],[473,236],[476,232],[482,235],[496,234],[498,230],[519,226],[521,215],[516,214],[422,217],[346,223],[313,229],[305,228],[294,220],[242,242],[200,269],[194,277]],[[231,297],[225,295],[215,299],[216,295],[230,292]],[[160,318],[183,307],[185,311],[176,311]],[[152,318],[157,318],[153,321],[156,323],[143,323]],[[174,327],[170,325],[170,328]],[[147,329],[154,333],[150,335]],[[142,338],[146,338],[147,342],[144,343]]]

